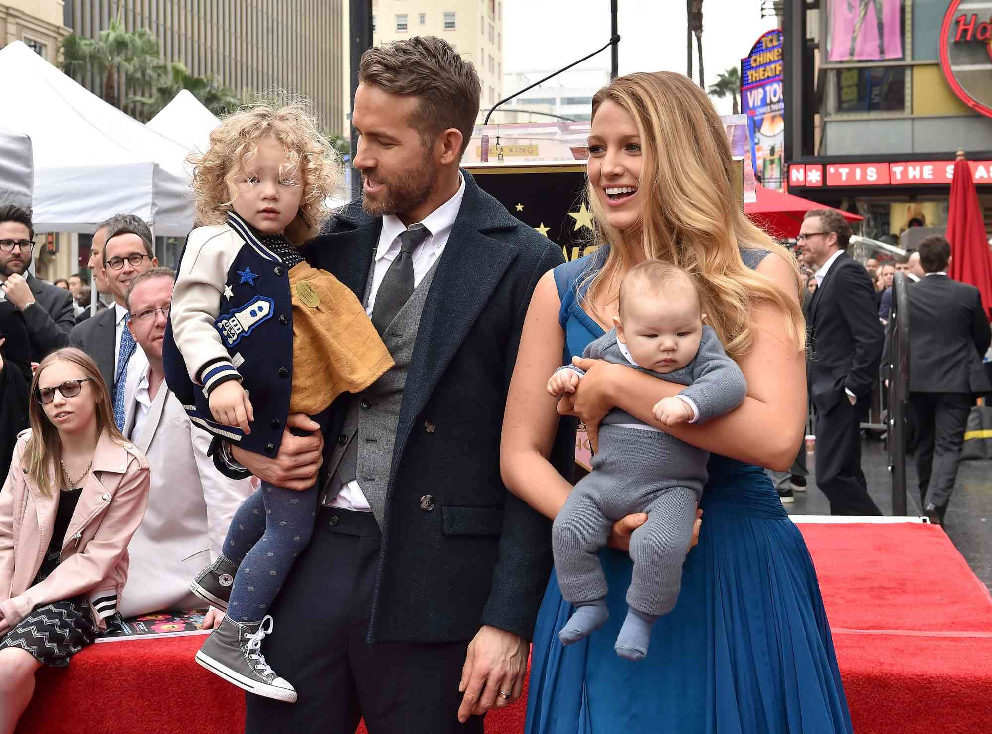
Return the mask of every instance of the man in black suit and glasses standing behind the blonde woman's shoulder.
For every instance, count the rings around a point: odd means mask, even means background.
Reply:
[[[832,515],[881,515],[861,471],[859,422],[878,380],[884,334],[871,280],[845,252],[851,228],[835,209],[812,209],[797,238],[819,283],[809,304],[816,409],[816,485]]]

